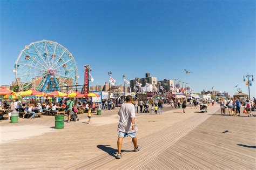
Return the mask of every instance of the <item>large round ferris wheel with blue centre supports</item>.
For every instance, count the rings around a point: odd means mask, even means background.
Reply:
[[[26,45],[14,65],[20,90],[61,91],[62,86],[77,84],[75,58],[64,46],[50,40]]]

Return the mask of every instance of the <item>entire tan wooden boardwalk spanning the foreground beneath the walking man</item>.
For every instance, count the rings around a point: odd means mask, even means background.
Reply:
[[[187,109],[141,115],[132,151],[124,139],[123,158],[116,160],[117,122],[79,124],[0,146],[1,169],[255,169],[254,117],[228,117]],[[107,117],[106,117],[107,118]],[[95,122],[99,121],[97,118]],[[47,120],[48,121],[48,120]],[[114,118],[114,121],[116,118]],[[4,125],[7,126],[7,125]],[[22,127],[22,126],[20,126]],[[50,128],[50,127],[49,127]],[[223,133],[225,131],[227,133]]]

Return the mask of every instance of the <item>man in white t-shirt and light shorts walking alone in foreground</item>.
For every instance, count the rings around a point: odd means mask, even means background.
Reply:
[[[119,109],[118,115],[120,117],[118,124],[118,140],[117,148],[118,153],[116,158],[120,159],[122,157],[121,148],[123,139],[127,136],[132,138],[134,145],[134,152],[138,152],[142,145],[137,145],[136,131],[138,128],[135,124],[135,109],[132,104],[132,96],[126,97],[126,103],[123,103]]]

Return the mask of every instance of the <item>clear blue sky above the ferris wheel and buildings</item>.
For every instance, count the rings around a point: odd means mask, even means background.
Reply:
[[[25,45],[53,40],[76,58],[79,83],[90,64],[93,84],[107,71],[122,84],[178,78],[195,92],[228,91],[255,75],[255,1],[1,1],[0,84]],[[184,69],[193,71],[185,74]],[[251,88],[255,96],[255,83]]]

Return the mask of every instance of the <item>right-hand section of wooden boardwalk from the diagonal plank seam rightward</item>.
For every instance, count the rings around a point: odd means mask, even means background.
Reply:
[[[255,118],[210,116],[198,114],[148,135],[139,140],[141,151],[123,152],[120,160],[103,154],[67,168],[256,169]],[[132,150],[128,144],[124,149]]]

